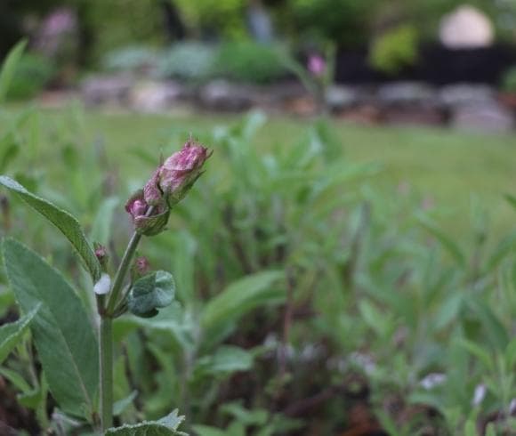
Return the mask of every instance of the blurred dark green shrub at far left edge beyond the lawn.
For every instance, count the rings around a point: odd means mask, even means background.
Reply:
[[[23,54],[12,77],[7,98],[26,100],[36,97],[48,85],[54,73],[54,66],[49,59],[34,53]]]

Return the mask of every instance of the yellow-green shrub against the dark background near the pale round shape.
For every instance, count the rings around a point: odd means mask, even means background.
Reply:
[[[410,25],[393,28],[375,40],[369,62],[380,71],[396,74],[417,60],[417,30]]]

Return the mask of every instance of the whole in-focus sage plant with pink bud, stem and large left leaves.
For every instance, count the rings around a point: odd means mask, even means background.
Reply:
[[[149,318],[173,302],[172,275],[163,270],[150,271],[149,263],[144,258],[134,259],[134,255],[142,237],[153,237],[165,230],[173,207],[198,180],[210,156],[211,151],[190,138],[129,198],[125,210],[133,222],[133,236],[112,277],[108,250],[99,244],[91,246],[71,214],[11,178],[0,176],[1,185],[69,239],[93,280],[100,318],[97,341],[83,304],[60,272],[27,246],[4,238],[5,272],[24,313],[20,321],[7,327],[10,337],[17,337],[30,327],[45,384],[60,410],[81,423],[93,425],[102,434],[184,434],[177,431],[182,419],[177,410],[158,421],[112,428],[113,320],[127,311]],[[0,344],[0,357],[14,348],[13,343]]]

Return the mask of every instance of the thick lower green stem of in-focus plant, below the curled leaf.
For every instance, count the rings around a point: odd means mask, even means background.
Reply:
[[[113,426],[113,319],[101,318],[101,428]]]

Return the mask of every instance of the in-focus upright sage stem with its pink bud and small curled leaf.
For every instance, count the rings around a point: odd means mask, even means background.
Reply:
[[[144,188],[125,205],[125,210],[133,219],[133,237],[125,249],[112,286],[109,286],[106,273],[95,284],[101,316],[101,424],[104,431],[111,427],[113,420],[113,319],[127,310],[149,318],[157,314],[157,308],[173,302],[173,278],[168,272],[153,271],[125,286],[136,247],[142,236],[155,236],[165,230],[173,206],[186,196],[198,180],[210,156],[208,149],[190,139],[181,151],[157,167]],[[138,264],[135,270],[138,270]]]

